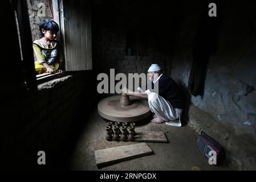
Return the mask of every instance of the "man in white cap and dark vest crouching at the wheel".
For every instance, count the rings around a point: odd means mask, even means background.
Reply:
[[[166,125],[180,127],[183,99],[179,86],[170,76],[164,75],[162,69],[157,64],[152,64],[149,67],[148,74],[149,79],[153,82],[152,84],[155,84],[157,81],[159,82],[159,94],[149,90],[145,92],[132,92],[127,88],[123,89],[123,93],[129,96],[148,98],[149,108],[155,113],[151,122],[165,122]]]

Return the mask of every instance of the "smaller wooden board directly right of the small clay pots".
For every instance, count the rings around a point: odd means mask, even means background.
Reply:
[[[161,142],[165,143],[168,140],[162,131],[136,131],[135,142]]]

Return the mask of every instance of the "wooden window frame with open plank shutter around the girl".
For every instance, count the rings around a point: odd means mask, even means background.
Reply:
[[[10,24],[10,36],[8,37],[11,38],[11,43],[7,45],[7,48],[15,51],[15,56],[12,57],[15,59],[15,63],[13,62],[15,68],[10,75],[18,76],[13,76],[14,79],[11,83],[15,83],[20,79],[19,84],[21,82],[24,84],[25,82],[28,89],[36,89],[38,80],[42,82],[44,77],[49,76],[48,74],[36,75],[35,73],[35,59],[29,22],[30,14],[28,11],[29,1],[33,2],[33,0],[21,0],[8,1],[6,3],[11,17],[6,22]],[[62,0],[52,0],[50,2],[54,7],[54,20],[60,26],[59,40],[62,43],[64,60],[66,62],[65,71],[92,69],[90,2]],[[13,27],[15,34],[11,34],[11,27]],[[38,30],[36,31],[38,32]],[[12,54],[14,53],[10,51],[10,55]],[[54,78],[56,78],[56,75],[54,75]],[[7,84],[10,84],[9,82],[6,81]]]

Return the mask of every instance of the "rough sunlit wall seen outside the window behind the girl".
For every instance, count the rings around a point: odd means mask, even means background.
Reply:
[[[38,4],[44,3],[46,11],[45,16],[38,16]],[[52,1],[50,1],[52,3]],[[39,23],[46,18],[52,18],[50,8],[48,6],[47,0],[27,0],[27,7],[29,11],[29,20],[30,20],[30,28],[32,33],[32,40],[40,39],[40,35],[37,34],[39,32]],[[52,8],[52,6],[51,6]]]

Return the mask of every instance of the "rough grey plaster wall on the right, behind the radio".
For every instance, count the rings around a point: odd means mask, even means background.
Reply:
[[[193,6],[192,6],[193,7]],[[194,105],[210,113],[217,121],[240,137],[256,139],[256,18],[252,2],[222,2],[220,35],[217,52],[209,59],[204,97],[192,96]],[[184,6],[188,11],[191,7]],[[239,11],[238,13],[238,10]],[[186,42],[186,34],[194,38],[195,28],[184,17],[178,42]],[[192,45],[193,39],[189,39]],[[192,65],[192,47],[182,47],[172,57],[172,77],[188,86]],[[207,122],[207,121],[206,121]]]

